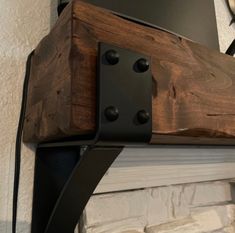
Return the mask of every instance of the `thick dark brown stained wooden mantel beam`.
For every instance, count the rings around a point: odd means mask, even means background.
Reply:
[[[25,142],[95,131],[99,42],[152,57],[153,144],[235,144],[235,59],[74,0],[32,60]]]

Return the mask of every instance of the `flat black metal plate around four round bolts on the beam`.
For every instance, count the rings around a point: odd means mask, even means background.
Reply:
[[[117,64],[110,64],[106,54],[118,54]],[[144,59],[149,68],[141,72],[137,61]],[[98,122],[99,143],[115,144],[149,142],[152,135],[152,74],[151,59],[148,56],[100,43],[98,59]],[[119,117],[115,121],[107,119],[105,111],[115,107]],[[145,111],[149,119],[140,123],[138,113]]]

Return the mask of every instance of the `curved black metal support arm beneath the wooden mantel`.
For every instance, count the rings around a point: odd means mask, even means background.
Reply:
[[[33,233],[73,233],[97,184],[122,147],[39,148]]]

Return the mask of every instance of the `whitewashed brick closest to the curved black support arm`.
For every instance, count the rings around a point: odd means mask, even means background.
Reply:
[[[146,203],[146,190],[93,196],[86,207],[84,225],[88,228],[87,232],[96,233],[108,232],[114,225],[117,229],[125,225],[123,230],[143,229],[146,225]],[[89,230],[92,227],[96,230]]]

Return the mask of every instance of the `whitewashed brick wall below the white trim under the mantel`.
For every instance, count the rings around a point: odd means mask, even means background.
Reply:
[[[227,181],[95,195],[80,229],[81,233],[235,232],[235,205],[230,202]]]

